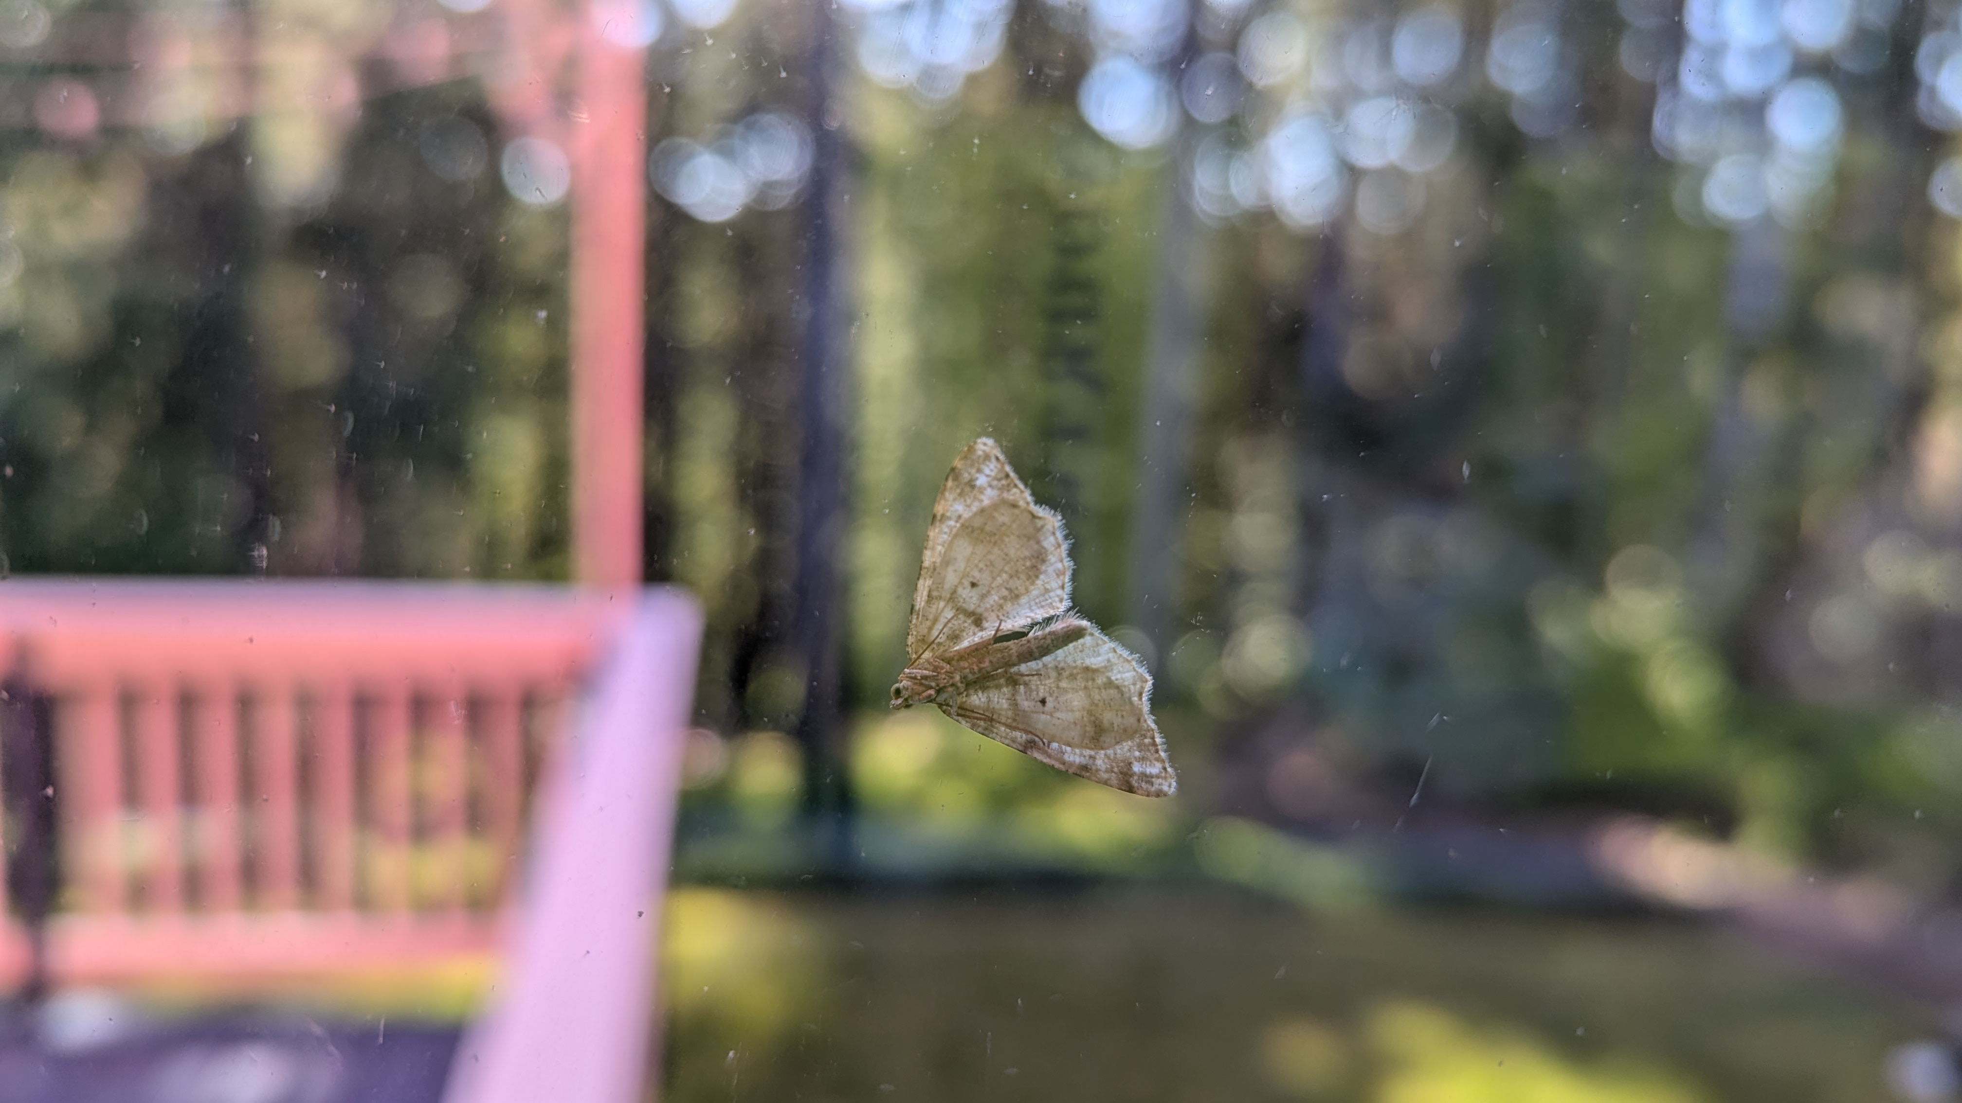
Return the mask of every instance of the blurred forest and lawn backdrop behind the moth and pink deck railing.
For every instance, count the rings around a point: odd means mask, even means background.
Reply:
[[[567,579],[487,4],[0,0],[0,575]],[[1954,4],[622,12],[667,1097],[1956,1095]],[[1179,797],[885,710],[979,434]]]

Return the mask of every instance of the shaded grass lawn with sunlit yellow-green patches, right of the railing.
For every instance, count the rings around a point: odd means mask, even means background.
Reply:
[[[671,1101],[1872,1101],[1927,1009],[1652,917],[677,889]]]

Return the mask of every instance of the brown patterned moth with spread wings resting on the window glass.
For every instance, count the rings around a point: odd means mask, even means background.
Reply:
[[[891,707],[934,705],[1077,777],[1169,797],[1152,673],[1071,612],[1069,571],[1063,520],[993,440],[969,444],[934,502]]]

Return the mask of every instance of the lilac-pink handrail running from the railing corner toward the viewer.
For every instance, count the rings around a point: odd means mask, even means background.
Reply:
[[[653,593],[549,779],[510,966],[445,1103],[640,1099],[698,612]]]

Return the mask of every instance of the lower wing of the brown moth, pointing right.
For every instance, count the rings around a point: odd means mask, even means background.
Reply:
[[[969,685],[940,709],[999,744],[1112,789],[1169,797],[1179,787],[1152,720],[1152,675],[1097,630]]]

